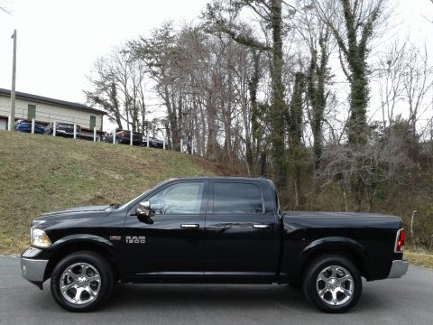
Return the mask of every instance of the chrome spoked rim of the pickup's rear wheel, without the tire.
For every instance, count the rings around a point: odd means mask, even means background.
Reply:
[[[323,302],[340,306],[354,294],[354,278],[344,267],[329,265],[318,274],[316,291]]]

